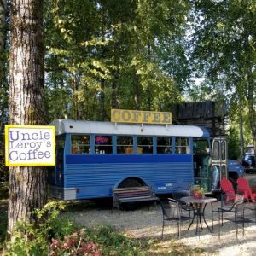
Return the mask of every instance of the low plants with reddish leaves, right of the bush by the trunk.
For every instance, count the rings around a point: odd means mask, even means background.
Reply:
[[[147,255],[151,244],[152,241],[134,240],[104,226],[81,229],[62,240],[52,239],[50,255]]]

